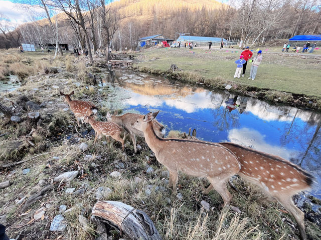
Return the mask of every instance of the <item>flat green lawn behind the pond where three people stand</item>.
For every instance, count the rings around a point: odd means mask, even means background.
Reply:
[[[298,56],[275,54],[274,51],[272,53],[263,50],[262,63],[257,70],[255,80],[251,80],[248,79],[251,69],[250,62],[248,62],[244,77],[233,78],[236,69],[234,61],[238,59],[240,53],[239,49],[229,49],[228,52],[200,48],[194,48],[191,51],[184,47],[148,49],[143,52],[143,62],[137,63],[136,66],[165,71],[170,68],[171,64],[176,64],[183,71],[198,73],[208,79],[221,77],[259,88],[321,97],[319,82],[321,81],[321,57],[320,59],[303,59]],[[308,54],[306,53],[306,56]]]

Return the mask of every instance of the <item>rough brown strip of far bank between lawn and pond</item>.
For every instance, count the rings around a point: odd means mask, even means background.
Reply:
[[[211,78],[208,79],[197,73],[184,72],[184,71],[172,71],[172,70],[159,70],[150,67],[139,67],[134,66],[133,70],[158,74],[165,77],[171,77],[183,82],[188,82],[196,85],[203,85],[204,87],[210,89],[221,89],[224,90],[227,84],[232,86],[229,89],[230,92],[241,93],[250,97],[255,97],[261,100],[270,101],[278,104],[288,104],[298,108],[313,109],[316,111],[321,111],[321,98],[316,96],[306,96],[304,94],[295,94],[291,92],[277,91],[266,88],[258,88],[255,86],[249,86],[246,84],[241,84],[229,80],[224,80],[223,78]]]

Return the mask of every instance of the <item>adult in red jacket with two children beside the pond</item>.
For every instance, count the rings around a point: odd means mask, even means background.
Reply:
[[[244,76],[245,71],[246,71],[247,62],[250,61],[250,62],[252,62],[252,66],[251,66],[251,71],[250,71],[250,77],[248,79],[252,79],[252,80],[255,79],[257,68],[262,61],[262,50],[259,50],[257,52],[257,55],[255,57],[253,57],[253,59],[250,60],[250,58],[252,56],[253,56],[253,52],[250,51],[248,46],[246,46],[244,51],[242,51],[240,58],[235,61],[236,70],[235,70],[234,78],[236,78],[236,77],[240,78],[242,68],[243,68],[242,76]]]

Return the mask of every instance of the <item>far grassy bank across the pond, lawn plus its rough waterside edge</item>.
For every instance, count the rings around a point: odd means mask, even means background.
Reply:
[[[233,52],[232,52],[233,51]],[[237,52],[236,52],[237,51]],[[210,87],[223,89],[226,83],[234,91],[259,98],[321,109],[321,85],[319,84],[321,57],[314,59],[308,53],[301,58],[297,54],[264,52],[255,80],[248,79],[251,65],[244,77],[233,78],[240,55],[239,49],[229,48],[157,48],[143,51],[141,62],[134,67],[141,71],[163,74]],[[311,58],[309,58],[311,57]],[[172,72],[171,64],[182,71]]]

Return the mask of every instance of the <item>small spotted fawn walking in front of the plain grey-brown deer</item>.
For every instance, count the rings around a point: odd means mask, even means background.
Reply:
[[[124,149],[124,139],[121,138],[120,133],[122,130],[122,127],[114,122],[103,122],[103,121],[96,121],[92,116],[85,116],[84,118],[85,122],[89,122],[92,128],[95,130],[95,140],[96,142],[97,138],[101,137],[102,134],[106,136],[111,136],[117,141],[121,142],[122,149]]]

